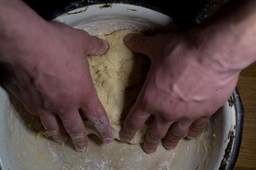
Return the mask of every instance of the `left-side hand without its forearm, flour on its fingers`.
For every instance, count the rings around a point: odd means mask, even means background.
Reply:
[[[109,143],[112,128],[86,59],[87,54],[104,54],[107,42],[61,23],[45,22],[34,32],[1,51],[10,58],[1,63],[3,84],[40,117],[57,142],[64,142],[67,132],[76,149],[85,151],[88,139],[79,114],[82,110],[102,141]]]

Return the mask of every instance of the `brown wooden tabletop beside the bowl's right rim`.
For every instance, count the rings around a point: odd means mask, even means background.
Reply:
[[[234,170],[256,170],[256,63],[241,72],[237,88],[245,116],[240,153]]]

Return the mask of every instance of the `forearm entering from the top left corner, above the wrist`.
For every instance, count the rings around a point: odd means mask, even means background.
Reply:
[[[33,48],[46,21],[22,0],[0,0],[0,62],[11,62],[13,50]],[[34,44],[37,42],[34,42]]]

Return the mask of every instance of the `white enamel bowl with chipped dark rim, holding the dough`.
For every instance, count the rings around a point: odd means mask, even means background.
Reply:
[[[121,29],[147,33],[176,29],[171,17],[123,3],[85,6],[54,20],[94,35]],[[20,104],[11,102],[0,88],[1,170],[232,170],[243,123],[242,104],[235,91],[197,140],[182,140],[173,151],[166,151],[160,144],[156,153],[148,155],[140,145],[118,141],[100,145],[91,141],[88,151],[77,153],[70,139],[61,146],[52,139],[36,138],[22,112]]]

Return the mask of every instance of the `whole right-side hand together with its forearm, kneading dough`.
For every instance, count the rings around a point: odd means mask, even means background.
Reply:
[[[131,140],[149,116],[146,153],[153,153],[164,137],[164,147],[171,150],[184,136],[198,136],[231,96],[239,72],[256,60],[255,7],[255,0],[231,0],[188,31],[128,34],[128,48],[146,54],[152,64],[121,139]]]

